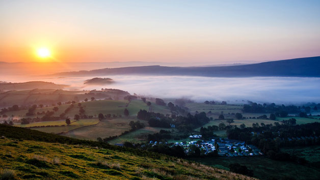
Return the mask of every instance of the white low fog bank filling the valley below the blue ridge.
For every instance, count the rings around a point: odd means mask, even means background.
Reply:
[[[320,102],[320,78],[250,77],[212,78],[190,76],[100,76],[112,78],[116,83],[85,85],[92,77],[50,78],[43,81],[68,84],[74,89],[118,88],[130,94],[158,98],[190,98],[196,102],[206,100],[245,103],[301,104]],[[10,81],[10,79],[8,79]],[[32,79],[29,79],[32,80]],[[39,80],[39,79],[37,79]],[[20,81],[21,82],[21,79]],[[243,102],[245,101],[245,102]]]

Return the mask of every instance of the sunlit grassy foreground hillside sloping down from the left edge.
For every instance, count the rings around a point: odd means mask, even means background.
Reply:
[[[15,179],[254,179],[135,149],[0,125],[1,170]],[[2,177],[0,177],[2,178]]]

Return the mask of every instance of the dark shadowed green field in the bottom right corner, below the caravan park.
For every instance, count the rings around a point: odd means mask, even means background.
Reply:
[[[266,157],[241,158],[193,158],[189,159],[212,167],[228,169],[229,164],[239,163],[253,170],[254,177],[268,179],[312,180],[320,177],[320,171],[292,162],[274,161]]]

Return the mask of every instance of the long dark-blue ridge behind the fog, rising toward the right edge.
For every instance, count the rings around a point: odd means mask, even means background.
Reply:
[[[57,76],[88,75],[188,75],[207,77],[252,77],[252,76],[285,76],[285,77],[320,77],[320,56],[287,59],[240,66],[220,67],[166,67],[140,66],[125,68],[105,68],[92,71],[57,73]]]

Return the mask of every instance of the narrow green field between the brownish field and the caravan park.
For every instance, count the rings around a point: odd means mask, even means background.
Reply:
[[[153,128],[145,127],[134,132],[119,136],[115,139],[108,141],[110,144],[123,143],[123,142],[132,142],[132,143],[142,143],[146,142],[148,134],[158,133],[160,130],[170,130],[166,128]]]

